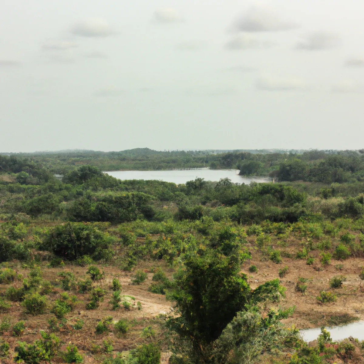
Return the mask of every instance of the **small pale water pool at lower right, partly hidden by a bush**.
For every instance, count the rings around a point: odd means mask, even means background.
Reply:
[[[344,326],[326,327],[326,329],[330,332],[333,341],[343,340],[349,336],[364,340],[364,321],[357,321]],[[318,335],[321,333],[321,329],[300,330],[300,333],[303,340],[309,343],[310,341],[317,339]]]

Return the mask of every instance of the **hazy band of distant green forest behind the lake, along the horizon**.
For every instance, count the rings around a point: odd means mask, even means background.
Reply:
[[[24,172],[39,178],[45,171],[66,175],[90,165],[103,171],[238,169],[241,175],[276,181],[344,183],[364,178],[364,150],[155,151],[137,148],[118,152],[59,151],[0,155],[0,173]]]

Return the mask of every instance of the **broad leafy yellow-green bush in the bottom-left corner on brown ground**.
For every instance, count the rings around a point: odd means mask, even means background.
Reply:
[[[19,342],[15,347],[17,353],[15,361],[24,361],[25,364],[38,364],[42,361],[50,361],[56,355],[60,347],[60,341],[54,334],[40,332],[41,339],[35,340],[34,344]]]

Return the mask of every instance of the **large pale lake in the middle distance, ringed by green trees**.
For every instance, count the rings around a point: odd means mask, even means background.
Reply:
[[[233,183],[249,184],[252,181],[269,182],[268,178],[260,177],[242,177],[238,175],[239,171],[229,170],[212,170],[212,169],[183,169],[172,171],[110,171],[106,172],[112,177],[125,179],[157,179],[159,181],[173,182],[179,185],[192,179],[205,178],[205,181],[219,181],[221,178],[230,178]]]

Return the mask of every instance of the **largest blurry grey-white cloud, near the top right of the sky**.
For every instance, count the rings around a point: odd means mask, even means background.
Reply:
[[[235,25],[245,32],[277,32],[297,28],[297,24],[282,20],[274,11],[264,7],[252,7]]]

